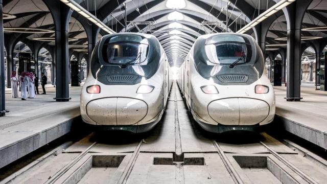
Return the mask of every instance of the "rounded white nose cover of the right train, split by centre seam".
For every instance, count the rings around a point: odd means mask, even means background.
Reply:
[[[255,125],[269,114],[269,105],[265,101],[249,98],[215,100],[207,109],[209,116],[223,125]]]

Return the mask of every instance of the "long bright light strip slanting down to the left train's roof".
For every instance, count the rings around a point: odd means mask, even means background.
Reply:
[[[89,21],[93,22],[95,25],[97,25],[103,31],[105,31],[109,34],[116,33],[112,29],[110,29],[107,25],[105,25],[101,20],[99,20],[96,16],[92,15],[90,12],[88,12],[83,7],[81,7],[74,0],[60,0],[60,1],[62,3],[64,3],[65,5],[67,5],[69,8],[72,8],[77,13],[81,14],[83,17],[87,18]]]

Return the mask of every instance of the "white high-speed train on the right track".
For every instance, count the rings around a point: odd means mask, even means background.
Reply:
[[[273,121],[275,95],[259,45],[249,35],[200,36],[179,70],[178,86],[205,130],[253,130]]]

